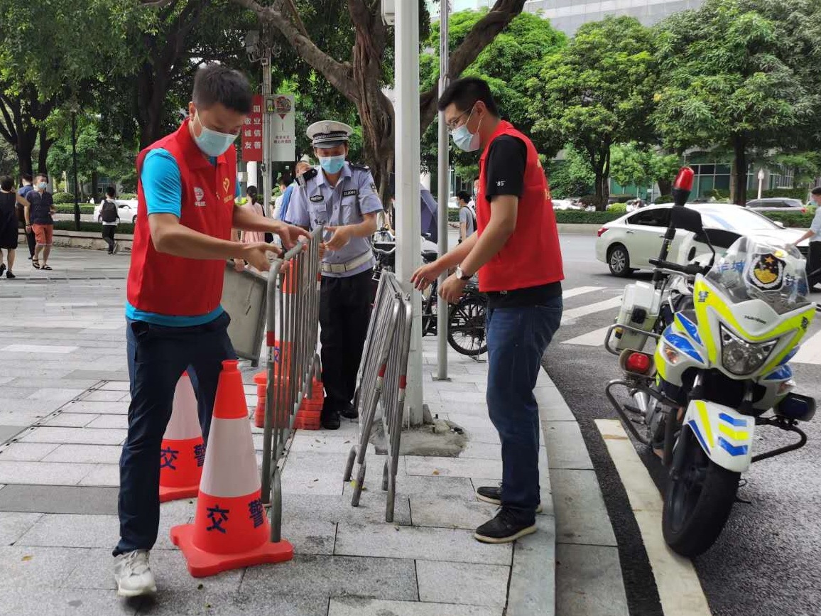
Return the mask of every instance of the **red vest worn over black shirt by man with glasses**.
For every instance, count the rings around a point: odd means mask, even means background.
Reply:
[[[550,188],[544,177],[542,163],[539,162],[539,154],[530,139],[504,120],[499,122],[479,159],[479,195],[476,196],[479,236],[490,222],[490,201],[484,197],[488,150],[493,140],[502,135],[517,137],[527,146],[525,184],[519,197],[516,230],[502,246],[502,250],[479,268],[481,292],[539,287],[564,279],[556,216],[553,214]]]

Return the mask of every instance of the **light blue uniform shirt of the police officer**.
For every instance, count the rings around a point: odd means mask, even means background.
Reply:
[[[321,168],[312,177],[306,186],[298,186],[291,193],[291,202],[286,214],[287,223],[313,230],[320,224],[332,227],[342,227],[348,224],[358,224],[365,214],[374,214],[382,211],[382,201],[376,191],[374,177],[368,169],[351,167],[346,161],[342,168],[337,186],[331,186],[325,179]],[[329,240],[330,233],[325,240]],[[346,246],[338,251],[328,251],[323,257],[324,263],[340,264],[354,260],[356,257],[371,251],[369,237],[351,237]],[[366,261],[349,272],[323,272],[323,276],[332,278],[347,278],[361,274],[374,267],[374,259]]]

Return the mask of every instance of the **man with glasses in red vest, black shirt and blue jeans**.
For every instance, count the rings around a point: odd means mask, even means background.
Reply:
[[[412,281],[424,289],[456,266],[439,289],[450,303],[479,274],[488,294],[488,414],[502,442],[502,485],[480,487],[501,506],[475,538],[506,543],[536,530],[539,502],[539,407],[533,388],[542,356],[562,320],[562,252],[550,189],[530,139],[499,119],[488,84],[453,81],[439,99],[457,147],[481,149],[476,195],[478,232]]]

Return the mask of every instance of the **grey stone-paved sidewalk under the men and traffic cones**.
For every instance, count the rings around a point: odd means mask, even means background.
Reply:
[[[54,267],[48,279],[18,268],[26,278],[0,281],[0,614],[553,614],[545,448],[539,532],[515,545],[479,544],[472,531],[495,508],[475,500],[475,487],[501,479],[498,436],[484,406],[487,368],[452,353],[452,380],[434,382],[434,339],[424,342],[426,402],[465,430],[467,444],[459,457],[402,458],[395,522],[384,522],[382,463],[373,450],[360,507],[350,505],[342,472],[354,423],[300,431],[282,476],[282,534],[295,545],[293,561],[194,579],[168,540],[170,526],[192,519],[194,501],[165,503],[152,552],[158,598],[117,600],[110,550],[128,407],[127,257],[65,249]],[[245,370],[250,405],[254,371]],[[558,393],[540,378],[549,421]]]

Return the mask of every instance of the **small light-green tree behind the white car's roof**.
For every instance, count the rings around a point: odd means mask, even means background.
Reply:
[[[676,154],[664,154],[636,143],[614,145],[610,152],[610,177],[621,186],[648,186],[658,182],[662,195],[669,195],[681,164]]]

